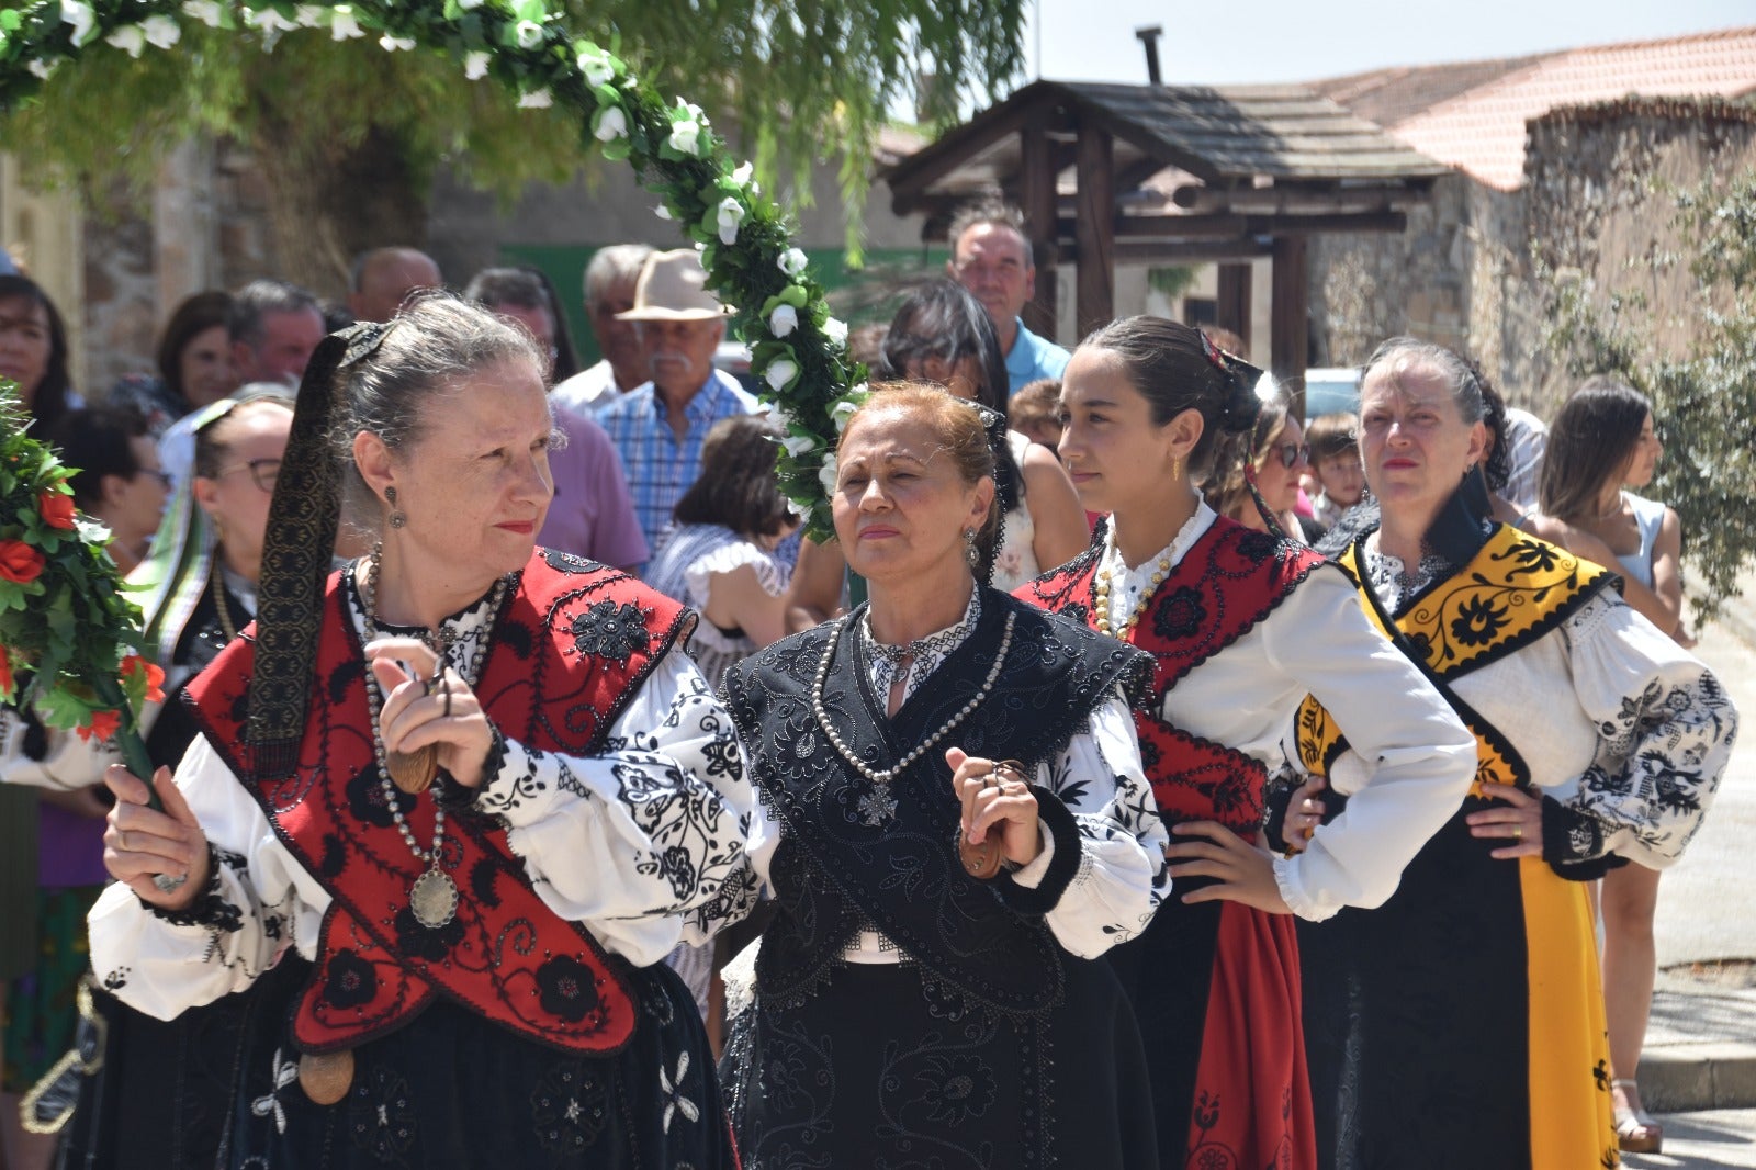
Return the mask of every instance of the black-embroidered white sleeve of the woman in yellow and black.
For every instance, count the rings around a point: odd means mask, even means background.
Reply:
[[[1663,870],[1714,803],[1738,713],[1700,659],[1619,597],[1593,597],[1563,636],[1598,750],[1582,776],[1547,791],[1544,857],[1614,852]]]

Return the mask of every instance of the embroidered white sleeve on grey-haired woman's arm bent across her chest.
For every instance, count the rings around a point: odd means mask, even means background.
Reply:
[[[753,805],[732,719],[676,646],[602,755],[506,741],[476,796],[476,810],[506,822],[543,901],[643,964],[750,912]]]

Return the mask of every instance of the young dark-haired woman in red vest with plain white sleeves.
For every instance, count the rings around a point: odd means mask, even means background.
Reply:
[[[1103,539],[1020,596],[1150,650],[1134,717],[1173,894],[1112,952],[1140,1015],[1164,1166],[1315,1165],[1289,912],[1384,901],[1457,806],[1473,745],[1438,692],[1373,631],[1347,574],[1196,495],[1220,432],[1257,418],[1259,372],[1194,329],[1115,321],[1062,378],[1061,457]],[[1306,692],[1359,736],[1356,808],[1310,849],[1256,845],[1268,771]],[[1180,896],[1178,896],[1180,894]]]

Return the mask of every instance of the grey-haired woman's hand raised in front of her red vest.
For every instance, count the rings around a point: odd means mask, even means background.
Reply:
[[[420,638],[379,638],[365,657],[385,696],[378,713],[385,750],[413,754],[437,745],[439,766],[453,780],[481,787],[493,726],[469,683],[450,668],[435,675],[439,655]]]

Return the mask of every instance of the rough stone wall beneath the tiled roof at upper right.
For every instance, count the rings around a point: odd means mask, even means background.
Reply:
[[[1549,355],[1545,271],[1589,279],[1598,304],[1644,293],[1670,351],[1686,350],[1691,278],[1654,272],[1677,248],[1670,191],[1709,172],[1756,167],[1756,111],[1719,100],[1630,98],[1535,119],[1524,186],[1498,191],[1461,172],[1438,179],[1400,235],[1312,241],[1312,337],[1319,365],[1349,365],[1393,334],[1470,353],[1508,401],[1538,415],[1566,395]]]

